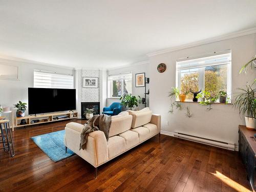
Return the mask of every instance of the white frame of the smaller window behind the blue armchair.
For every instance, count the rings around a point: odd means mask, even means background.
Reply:
[[[131,75],[131,78],[127,78],[127,77],[120,77],[120,78],[116,78],[116,79],[111,79],[111,76],[122,76],[122,75]],[[133,81],[133,75],[131,72],[129,73],[120,73],[120,74],[113,74],[113,75],[108,75],[108,99],[120,99],[120,97],[123,95],[123,81],[129,79],[131,81]],[[113,97],[113,81],[121,81],[121,96],[120,97]],[[132,82],[132,90],[131,90],[131,94],[133,92],[133,82]]]

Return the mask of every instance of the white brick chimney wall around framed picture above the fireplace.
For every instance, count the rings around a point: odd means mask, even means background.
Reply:
[[[98,88],[83,88],[83,77],[98,77]],[[99,70],[81,70],[81,102],[99,102],[100,101],[100,71]]]

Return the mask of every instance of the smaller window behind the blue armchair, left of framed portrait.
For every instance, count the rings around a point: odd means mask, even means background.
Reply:
[[[132,73],[109,75],[108,97],[119,98],[123,94],[132,93]]]

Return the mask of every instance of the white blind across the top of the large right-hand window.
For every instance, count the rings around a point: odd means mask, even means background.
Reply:
[[[224,65],[231,62],[231,51],[206,54],[185,59],[177,59],[177,70],[201,68],[207,66]]]

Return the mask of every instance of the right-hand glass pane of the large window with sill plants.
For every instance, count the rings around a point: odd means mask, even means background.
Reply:
[[[208,66],[205,68],[205,91],[216,96],[220,91],[227,92],[227,65]]]

